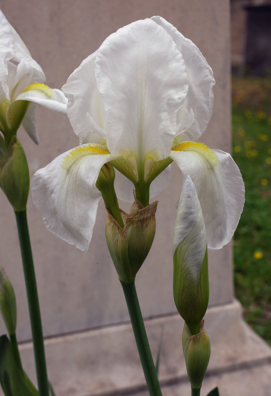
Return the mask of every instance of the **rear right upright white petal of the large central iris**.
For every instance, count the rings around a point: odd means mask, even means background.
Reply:
[[[182,53],[189,78],[189,88],[184,107],[192,108],[195,120],[187,130],[187,140],[196,141],[205,131],[212,115],[215,84],[213,72],[201,51],[165,19],[155,16],[151,18],[162,26],[173,38]],[[184,139],[185,140],[185,139]]]

